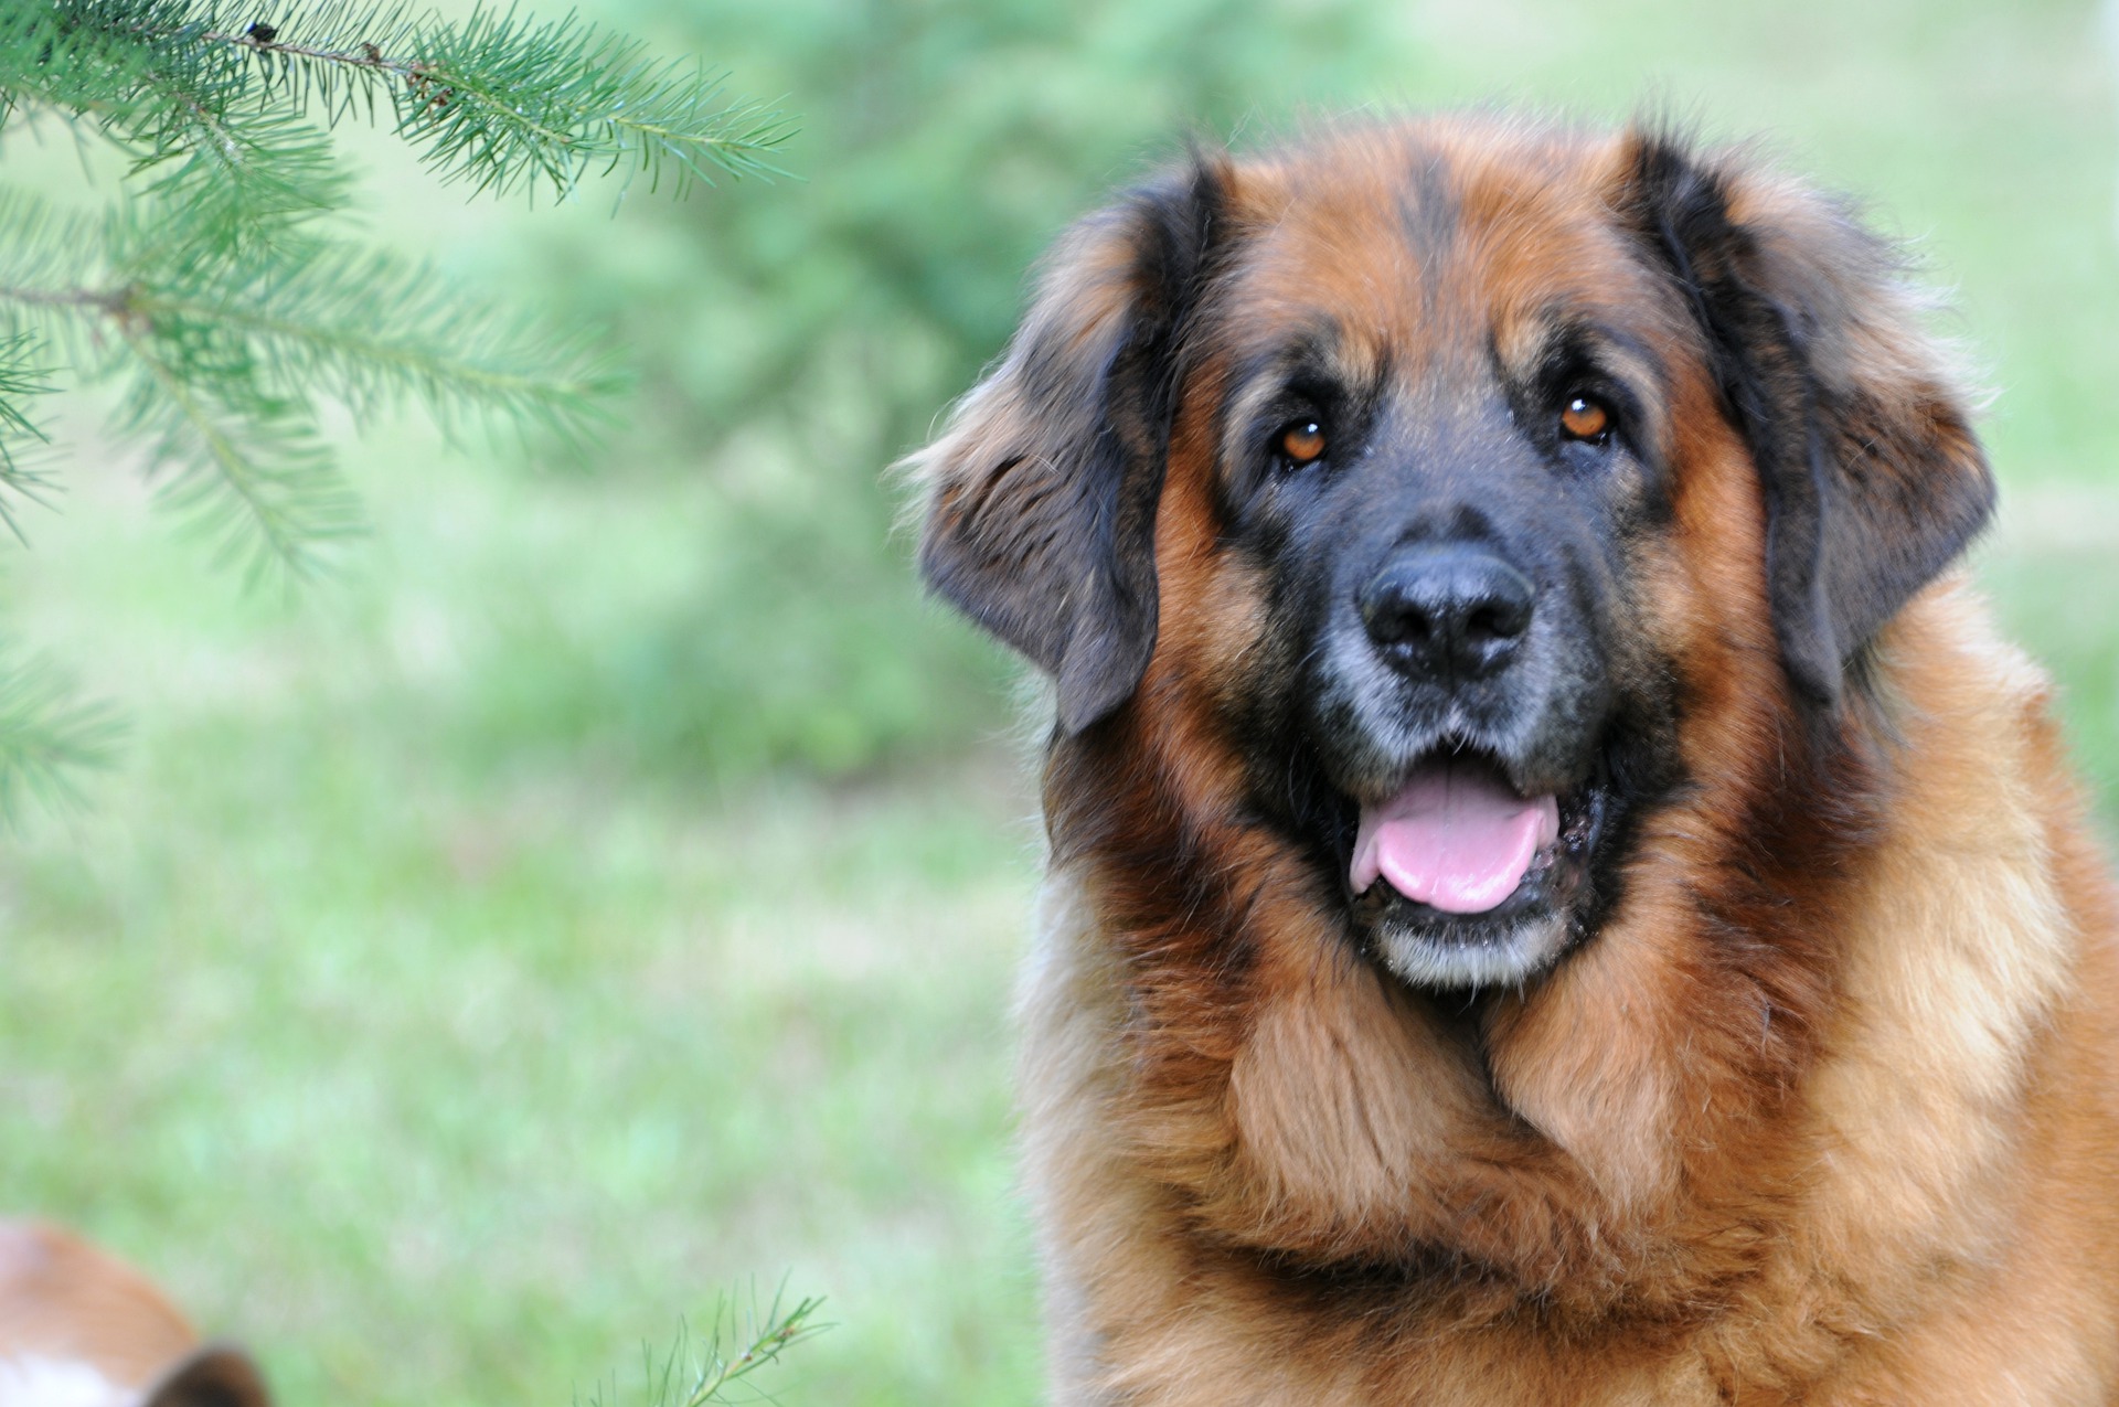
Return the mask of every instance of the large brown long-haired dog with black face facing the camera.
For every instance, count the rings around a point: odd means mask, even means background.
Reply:
[[[1502,119],[1085,220],[918,458],[1055,678],[1062,1403],[2119,1403],[2119,958],[1892,250]]]

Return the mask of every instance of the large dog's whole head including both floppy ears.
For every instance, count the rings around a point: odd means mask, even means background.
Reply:
[[[920,468],[928,581],[1053,676],[1062,740],[1182,718],[1443,987],[1596,932],[1706,695],[1831,733],[1992,502],[1839,206],[1494,119],[1204,157],[1085,220]]]

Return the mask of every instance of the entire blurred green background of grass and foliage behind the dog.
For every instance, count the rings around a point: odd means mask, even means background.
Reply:
[[[1867,195],[1998,390],[1979,570],[2119,816],[2089,6],[583,8],[784,93],[805,180],[523,212],[345,142],[375,237],[612,326],[642,388],[595,473],[364,426],[373,538],[259,598],[83,407],[64,513],[0,555],[8,636],[133,716],[91,809],[0,845],[0,1201],[153,1267],[288,1403],[634,1401],[642,1343],[782,1274],[837,1322],[782,1401],[1036,1401],[1032,803],[1009,665],[918,600],[879,470],[1187,131],[1646,108]],[[59,157],[4,153],[78,184]]]

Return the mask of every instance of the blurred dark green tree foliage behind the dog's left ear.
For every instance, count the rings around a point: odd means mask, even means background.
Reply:
[[[710,475],[725,513],[680,602],[593,638],[519,621],[581,670],[496,689],[470,733],[598,744],[648,769],[824,773],[998,720],[998,655],[920,600],[884,466],[994,358],[1066,222],[1252,104],[1413,76],[1394,13],[1343,0],[621,0],[663,47],[714,40],[788,91],[807,184],[574,227],[538,271],[610,318],[646,377],[621,458]]]

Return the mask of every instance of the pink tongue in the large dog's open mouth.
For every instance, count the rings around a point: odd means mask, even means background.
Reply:
[[[1538,845],[1557,837],[1553,797],[1517,797],[1483,761],[1428,759],[1396,797],[1360,807],[1354,892],[1382,875],[1443,913],[1485,913],[1524,881]]]

